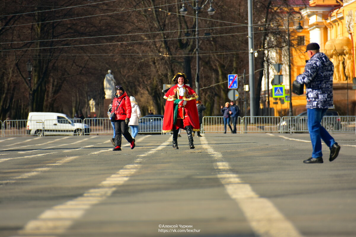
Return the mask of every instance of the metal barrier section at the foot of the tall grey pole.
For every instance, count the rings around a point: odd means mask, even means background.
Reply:
[[[281,117],[275,116],[245,116],[242,118],[242,130],[248,132],[279,132],[278,124]]]

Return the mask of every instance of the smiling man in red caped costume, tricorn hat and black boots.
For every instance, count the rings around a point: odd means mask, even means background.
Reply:
[[[198,98],[195,91],[185,85],[188,80],[184,73],[178,72],[172,79],[176,85],[172,86],[164,95],[167,99],[163,116],[163,133],[173,131],[173,149],[178,149],[178,131],[187,131],[190,149],[194,149],[193,131],[200,131],[199,116],[196,106]]]

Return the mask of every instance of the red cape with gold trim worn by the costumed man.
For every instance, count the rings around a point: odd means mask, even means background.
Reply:
[[[185,104],[184,106],[184,111],[188,116],[190,124],[192,124],[193,131],[200,131],[199,116],[196,102],[198,95],[191,87],[187,85],[184,85],[183,87],[185,88],[185,93],[182,99],[187,101],[187,104]],[[172,86],[167,91],[166,95],[163,96],[163,98],[167,99],[163,115],[163,133],[169,133],[173,131],[173,104],[176,99],[179,99],[179,91],[177,88],[177,85]]]

